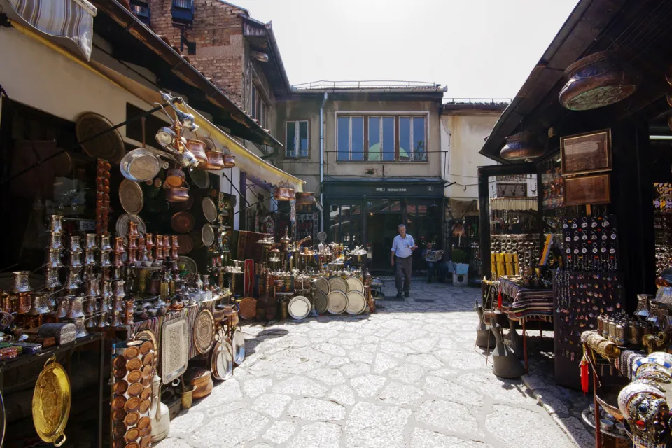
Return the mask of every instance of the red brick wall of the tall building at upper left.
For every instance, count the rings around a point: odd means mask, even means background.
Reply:
[[[151,25],[156,34],[179,47],[181,28],[173,25],[172,0],[150,0]],[[193,66],[239,106],[243,106],[243,21],[244,10],[219,0],[195,0],[194,22],[185,29],[188,41],[196,43],[196,54],[188,58]],[[186,47],[182,52],[186,55]]]

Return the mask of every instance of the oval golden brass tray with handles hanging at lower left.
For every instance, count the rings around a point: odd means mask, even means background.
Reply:
[[[68,374],[56,362],[56,356],[52,356],[44,363],[33,391],[33,423],[44,442],[55,447],[65,443],[71,398]]]

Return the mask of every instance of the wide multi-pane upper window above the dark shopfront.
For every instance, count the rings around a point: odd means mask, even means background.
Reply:
[[[427,118],[408,115],[337,116],[336,160],[426,162]]]

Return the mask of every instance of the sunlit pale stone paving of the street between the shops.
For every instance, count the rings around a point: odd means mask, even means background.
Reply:
[[[244,363],[159,447],[575,447],[474,350],[478,297],[415,279],[376,314],[244,325]]]

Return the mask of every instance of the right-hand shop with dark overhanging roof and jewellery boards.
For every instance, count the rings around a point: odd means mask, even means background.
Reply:
[[[502,165],[479,169],[477,344],[493,374],[519,377],[540,321],[555,383],[594,396],[596,447],[672,443],[672,34],[655,31],[668,13],[580,1],[481,150]],[[521,175],[536,204],[500,232],[519,210],[492,207],[489,188]]]

